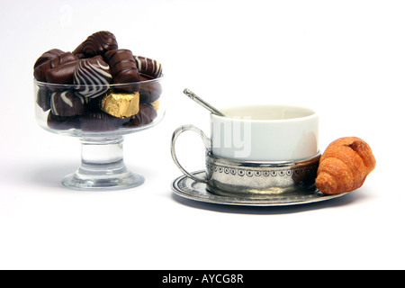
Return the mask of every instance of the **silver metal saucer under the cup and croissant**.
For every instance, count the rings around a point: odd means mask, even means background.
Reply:
[[[193,175],[203,177],[205,171],[196,171]],[[190,177],[182,175],[175,179],[172,183],[173,191],[184,198],[192,199],[200,202],[211,202],[216,204],[229,204],[229,205],[244,205],[244,206],[285,206],[306,204],[313,202],[321,202],[334,198],[341,197],[347,193],[340,193],[336,195],[326,195],[316,190],[312,193],[288,193],[282,195],[266,195],[266,197],[232,197],[220,196],[210,193],[206,189],[207,184],[197,182]]]

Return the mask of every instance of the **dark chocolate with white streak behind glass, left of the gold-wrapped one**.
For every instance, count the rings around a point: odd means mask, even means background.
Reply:
[[[72,90],[54,92],[50,96],[50,110],[57,116],[76,116],[85,112],[85,98]]]

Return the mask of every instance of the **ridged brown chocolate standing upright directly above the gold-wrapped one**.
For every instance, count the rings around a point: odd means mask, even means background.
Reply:
[[[105,53],[105,60],[111,67],[112,83],[126,84],[140,80],[139,71],[129,49],[114,49]],[[120,86],[122,90],[135,92],[135,85]]]

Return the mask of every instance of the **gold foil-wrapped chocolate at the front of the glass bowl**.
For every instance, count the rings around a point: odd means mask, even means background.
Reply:
[[[133,116],[139,112],[139,92],[107,93],[103,97],[101,109],[118,118]]]

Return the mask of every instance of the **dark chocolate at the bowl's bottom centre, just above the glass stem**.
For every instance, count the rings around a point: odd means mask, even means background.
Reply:
[[[83,131],[102,132],[118,130],[121,119],[106,112],[86,112],[80,116],[80,126]]]

